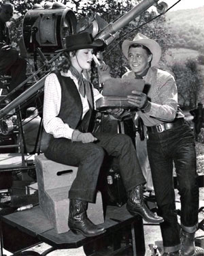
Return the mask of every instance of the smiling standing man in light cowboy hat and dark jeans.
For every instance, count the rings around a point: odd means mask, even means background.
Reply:
[[[192,132],[177,105],[175,80],[168,72],[155,67],[161,48],[145,35],[138,33],[133,41],[124,40],[122,53],[131,67],[123,77],[146,82],[143,92],[132,91],[128,99],[137,107],[137,114],[148,129],[148,158],[158,214],[165,220],[160,223],[163,255],[193,255],[199,209],[196,152]],[[173,163],[182,204],[181,231],[175,212]]]

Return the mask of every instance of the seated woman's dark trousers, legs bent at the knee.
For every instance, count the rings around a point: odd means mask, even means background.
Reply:
[[[78,173],[69,190],[69,199],[95,201],[99,171],[105,154],[118,158],[122,182],[126,190],[145,184],[135,147],[125,134],[93,134],[95,143],[71,142],[69,139],[52,139],[45,155],[65,165],[78,166]]]

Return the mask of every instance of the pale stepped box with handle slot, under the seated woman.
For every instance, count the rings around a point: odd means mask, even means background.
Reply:
[[[76,177],[78,167],[62,165],[48,160],[44,154],[35,156],[39,205],[50,220],[56,233],[69,231],[67,225],[69,216],[68,192]],[[88,218],[97,224],[104,222],[103,203],[98,191],[96,203],[88,203]]]

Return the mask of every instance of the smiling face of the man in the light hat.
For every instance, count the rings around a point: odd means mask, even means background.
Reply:
[[[152,55],[148,55],[147,51],[141,47],[130,47],[128,59],[133,72],[142,74],[150,66]]]

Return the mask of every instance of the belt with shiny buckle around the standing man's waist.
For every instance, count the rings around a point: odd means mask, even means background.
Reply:
[[[184,118],[175,119],[171,123],[157,124],[156,126],[147,126],[148,132],[164,132],[165,130],[171,130],[174,127],[184,124]]]

